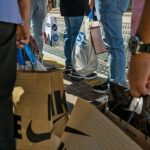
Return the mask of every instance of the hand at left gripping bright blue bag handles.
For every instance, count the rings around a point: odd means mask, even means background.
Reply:
[[[30,40],[29,25],[18,25],[16,31],[16,44],[18,48],[23,48],[23,44],[28,44]]]

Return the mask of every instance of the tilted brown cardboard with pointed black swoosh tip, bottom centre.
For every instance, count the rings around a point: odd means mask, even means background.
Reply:
[[[66,125],[59,149],[141,150],[94,105],[78,99]]]

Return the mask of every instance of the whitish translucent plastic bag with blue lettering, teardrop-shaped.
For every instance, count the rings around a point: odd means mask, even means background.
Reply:
[[[89,18],[86,17],[83,20],[72,51],[72,66],[82,76],[93,73],[98,66],[98,59],[92,45],[90,28],[91,23]]]

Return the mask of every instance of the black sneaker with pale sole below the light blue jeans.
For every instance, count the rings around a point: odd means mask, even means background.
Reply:
[[[101,85],[93,86],[93,91],[100,94],[106,94],[108,92],[108,88],[109,88],[109,81],[107,80]]]

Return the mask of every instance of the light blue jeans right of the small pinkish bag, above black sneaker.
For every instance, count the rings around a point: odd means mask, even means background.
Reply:
[[[125,84],[126,58],[122,37],[122,16],[130,0],[95,0],[97,18],[102,24],[109,48],[109,79]]]

